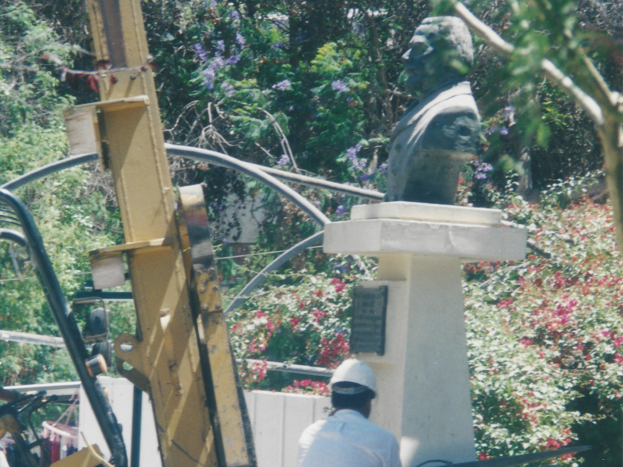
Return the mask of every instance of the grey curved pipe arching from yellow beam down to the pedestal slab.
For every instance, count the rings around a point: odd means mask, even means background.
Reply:
[[[315,207],[309,200],[303,197],[301,194],[294,191],[289,186],[275,179],[275,177],[261,171],[255,166],[255,164],[249,164],[239,159],[226,156],[226,154],[217,153],[216,151],[209,151],[208,149],[191,148],[191,146],[174,146],[173,144],[164,144],[164,148],[168,154],[174,154],[175,156],[182,156],[185,158],[197,159],[199,161],[206,161],[212,164],[218,164],[219,166],[228,167],[242,172],[249,177],[263,182],[265,185],[271,187],[273,190],[282,194],[294,204],[298,205],[302,210],[318,224],[325,225],[331,222],[326,215],[322,213],[320,209]]]

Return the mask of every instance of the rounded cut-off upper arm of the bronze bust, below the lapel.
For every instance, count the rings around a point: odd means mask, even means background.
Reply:
[[[422,149],[476,154],[480,119],[470,108],[449,108],[434,116],[424,131]]]

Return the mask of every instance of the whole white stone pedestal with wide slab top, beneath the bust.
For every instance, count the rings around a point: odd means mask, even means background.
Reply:
[[[394,433],[403,467],[476,460],[460,263],[520,260],[526,232],[502,213],[389,202],[325,225],[325,253],[379,258],[388,285],[385,354],[359,354],[378,379],[371,420]]]

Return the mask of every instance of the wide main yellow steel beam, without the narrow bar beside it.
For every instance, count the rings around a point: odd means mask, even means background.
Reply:
[[[139,337],[120,336],[115,351],[133,367],[123,374],[150,392],[163,466],[216,466],[140,2],[87,0],[87,7],[100,68],[103,157],[112,171],[125,242],[164,238],[171,245],[126,250]],[[123,352],[121,342],[133,347]]]

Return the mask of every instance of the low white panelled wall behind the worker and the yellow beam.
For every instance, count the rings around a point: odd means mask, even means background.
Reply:
[[[133,385],[125,378],[100,376],[100,382],[123,427],[123,440],[131,450]],[[328,415],[331,407],[329,397],[287,394],[285,392],[245,392],[249,418],[253,427],[258,467],[295,467],[297,464],[298,438],[303,430]],[[326,409],[326,410],[325,410]],[[153,420],[151,402],[143,394],[141,423],[141,467],[161,467],[158,440]],[[87,395],[80,388],[80,431],[91,444],[97,444],[105,458],[110,450],[104,441]],[[85,446],[82,437],[78,448]]]

